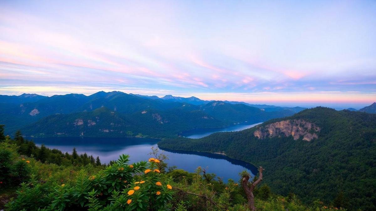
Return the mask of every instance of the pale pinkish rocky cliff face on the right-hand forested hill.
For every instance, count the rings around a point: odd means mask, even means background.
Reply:
[[[260,127],[253,134],[259,139],[265,139],[267,137],[282,137],[293,136],[294,140],[303,137],[303,140],[311,141],[317,138],[317,133],[320,132],[320,128],[311,122],[307,122],[302,119],[286,120],[280,122],[274,122],[264,127]]]

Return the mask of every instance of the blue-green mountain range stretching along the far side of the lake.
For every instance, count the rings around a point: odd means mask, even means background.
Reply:
[[[159,98],[117,91],[89,96],[0,95],[0,124],[6,125],[8,134],[22,130],[27,136],[165,137],[195,128],[262,122],[305,109],[255,106],[245,102],[204,101],[194,96]]]

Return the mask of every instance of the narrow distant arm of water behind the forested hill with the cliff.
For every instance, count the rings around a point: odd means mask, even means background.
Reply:
[[[262,122],[258,122],[255,124],[237,124],[237,125],[231,125],[226,128],[205,128],[205,129],[194,129],[190,131],[185,131],[182,133],[182,136],[191,138],[191,139],[199,139],[205,136],[209,136],[212,133],[217,133],[217,132],[230,132],[230,131],[240,131],[240,130],[245,130],[248,128],[252,128],[256,125],[261,124]]]

